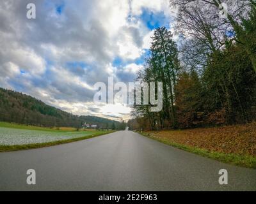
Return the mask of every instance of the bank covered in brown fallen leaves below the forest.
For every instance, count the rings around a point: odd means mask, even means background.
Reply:
[[[149,134],[154,138],[211,152],[256,156],[256,122],[220,128],[149,132]]]

